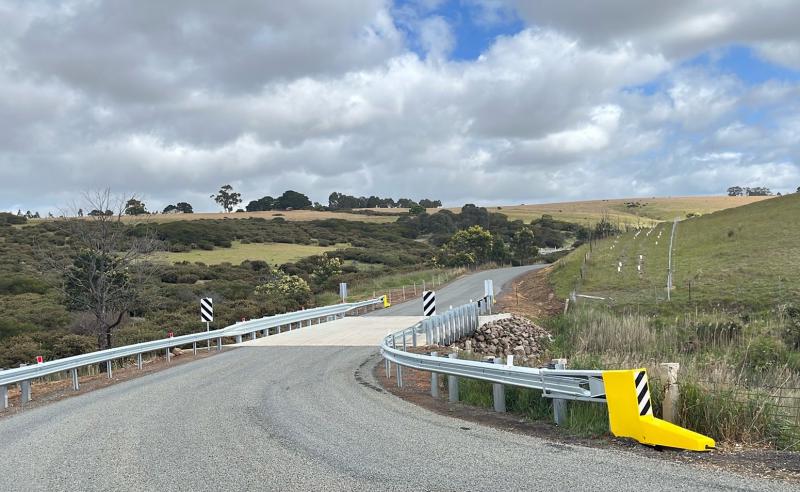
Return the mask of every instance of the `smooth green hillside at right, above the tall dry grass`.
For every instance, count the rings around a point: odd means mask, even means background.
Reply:
[[[632,230],[596,242],[580,293],[608,297],[614,305],[664,301],[671,229],[671,222],[666,222],[652,231]],[[580,248],[555,272],[559,296],[567,296],[574,288],[588,250],[588,246]],[[676,229],[673,255],[673,304],[768,309],[797,302],[800,194],[682,220]]]

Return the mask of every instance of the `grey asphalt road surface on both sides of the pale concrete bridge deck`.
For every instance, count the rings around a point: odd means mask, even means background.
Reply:
[[[331,340],[255,341],[0,419],[0,490],[788,488],[433,414],[377,388],[374,347]]]

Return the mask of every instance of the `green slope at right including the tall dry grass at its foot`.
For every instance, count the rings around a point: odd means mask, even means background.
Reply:
[[[573,367],[647,367],[655,388],[659,363],[677,362],[681,425],[800,449],[800,194],[678,222],[668,302],[671,230],[629,231],[558,263],[561,298],[575,289],[604,299],[579,297],[548,321],[552,355]]]

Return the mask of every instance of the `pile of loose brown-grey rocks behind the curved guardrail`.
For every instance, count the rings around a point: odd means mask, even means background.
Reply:
[[[462,338],[454,345],[460,350],[496,357],[513,355],[516,360],[525,362],[541,355],[544,346],[552,339],[550,333],[541,326],[525,318],[512,316],[486,323],[472,336]]]

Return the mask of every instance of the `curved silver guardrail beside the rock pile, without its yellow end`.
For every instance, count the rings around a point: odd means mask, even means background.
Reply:
[[[387,363],[393,362],[399,368],[409,367],[431,373],[538,389],[548,398],[606,402],[602,371],[537,369],[408,352],[409,347],[419,345],[421,335],[425,336],[426,345],[450,345],[472,335],[479,326],[479,316],[488,313],[489,308],[489,303],[484,303],[482,307],[478,303],[469,303],[428,317],[414,326],[387,335],[380,346],[381,355]],[[402,378],[401,371],[398,375]],[[400,378],[398,384],[402,384]]]

